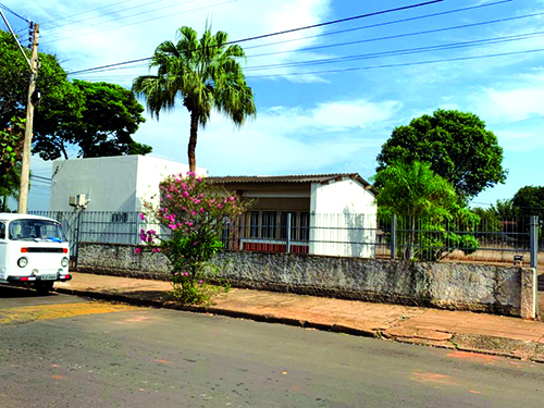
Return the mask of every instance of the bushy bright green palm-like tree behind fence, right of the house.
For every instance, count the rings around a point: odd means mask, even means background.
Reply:
[[[378,173],[375,198],[381,214],[396,214],[401,224],[399,244],[404,259],[440,260],[455,248],[473,250],[478,243],[470,234],[450,232],[448,221],[468,232],[474,218],[458,205],[454,187],[431,170],[426,162],[393,162]],[[416,242],[418,248],[416,250]]]

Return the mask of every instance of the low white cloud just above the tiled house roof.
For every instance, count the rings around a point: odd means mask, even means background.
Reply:
[[[341,169],[359,162],[384,141],[384,129],[400,104],[395,101],[363,100],[320,103],[312,109],[276,107],[259,113],[242,129],[233,129],[226,119],[213,115],[199,131],[197,162],[211,174],[312,173]],[[189,132],[188,113],[161,116],[138,132],[138,141],[151,144],[153,156],[186,162]],[[368,160],[367,160],[368,161]],[[351,164],[350,164],[351,163]],[[373,166],[373,158],[371,166]]]

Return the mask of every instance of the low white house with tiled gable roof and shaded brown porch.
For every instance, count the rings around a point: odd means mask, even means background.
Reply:
[[[209,177],[257,202],[232,248],[372,258],[376,190],[357,173]],[[287,221],[290,220],[290,223]]]

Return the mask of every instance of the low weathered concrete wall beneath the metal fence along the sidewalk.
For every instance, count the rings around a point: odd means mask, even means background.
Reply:
[[[78,264],[85,272],[169,280],[165,258],[137,256],[134,249],[84,243]],[[524,318],[536,313],[534,269],[257,252],[223,252],[214,263],[237,287]]]

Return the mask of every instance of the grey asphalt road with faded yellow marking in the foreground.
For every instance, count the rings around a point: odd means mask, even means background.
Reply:
[[[0,287],[0,407],[543,407],[544,364]]]

